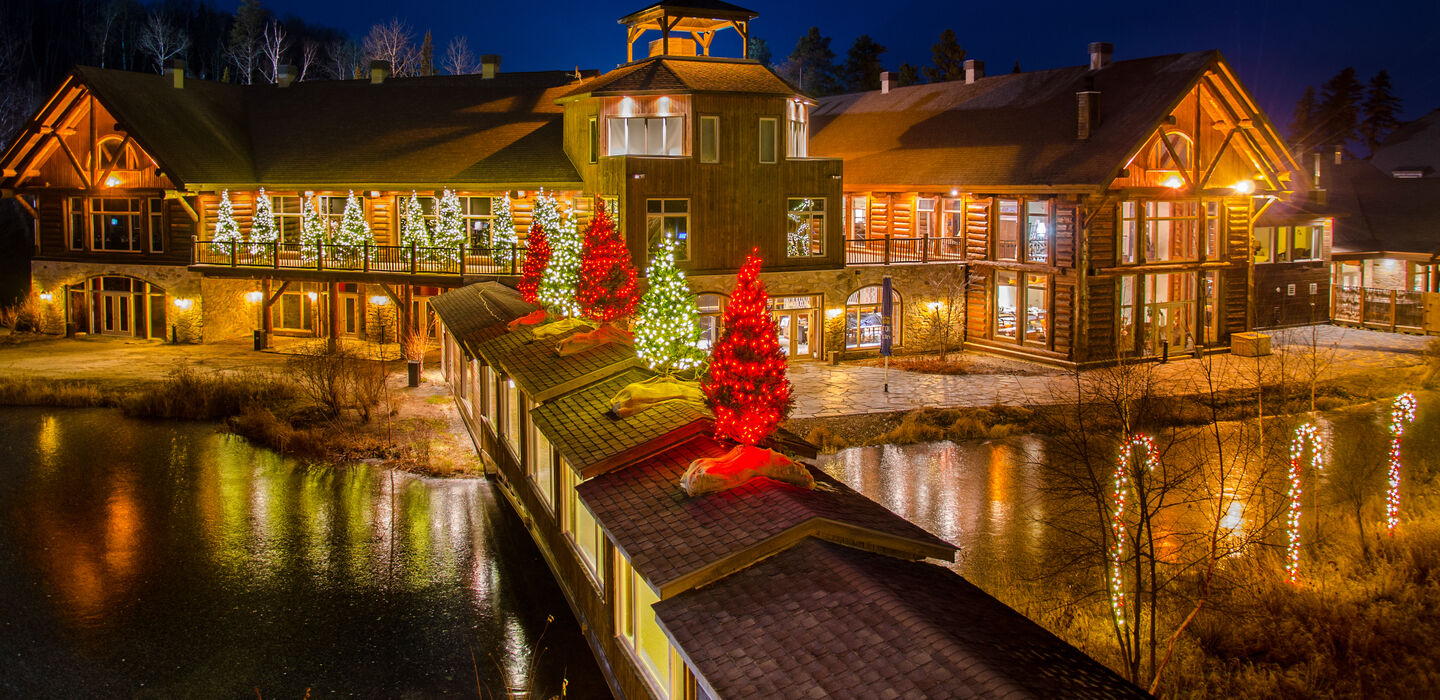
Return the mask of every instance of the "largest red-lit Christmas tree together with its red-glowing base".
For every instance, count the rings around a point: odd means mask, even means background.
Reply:
[[[732,488],[759,475],[806,488],[815,485],[804,465],[755,447],[779,428],[793,405],[785,353],[766,301],[756,249],[740,268],[734,295],[724,311],[724,331],[700,383],[716,415],[716,438],[739,445],[724,457],[690,464],[681,478],[690,495]]]

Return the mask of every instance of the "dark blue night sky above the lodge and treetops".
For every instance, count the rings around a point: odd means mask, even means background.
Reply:
[[[625,60],[625,30],[616,19],[645,0],[269,0],[278,14],[340,26],[363,36],[370,24],[399,16],[416,35],[435,32],[436,58],[455,33],[469,37],[475,53],[500,53],[503,71],[613,68]],[[1220,49],[1270,118],[1280,127],[1305,85],[1318,85],[1345,66],[1362,81],[1390,71],[1404,99],[1404,117],[1440,108],[1440,0],[1421,1],[1233,1],[1086,3],[907,0],[742,0],[759,13],[756,36],[776,58],[789,55],[809,26],[831,36],[838,58],[868,33],[890,50],[886,68],[901,60],[930,65],[930,45],[942,29],[955,29],[969,58],[989,72],[1008,72],[1018,59],[1025,71],[1080,65],[1086,45],[1115,43],[1116,59]],[[739,40],[716,39],[719,55],[737,55]]]

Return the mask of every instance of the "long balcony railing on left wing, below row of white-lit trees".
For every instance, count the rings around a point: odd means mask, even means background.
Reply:
[[[314,269],[397,275],[518,275],[524,246],[423,248],[403,245],[251,243],[197,241],[193,265]]]

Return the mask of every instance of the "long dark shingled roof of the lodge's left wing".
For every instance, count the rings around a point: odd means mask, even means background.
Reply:
[[[75,75],[190,186],[579,186],[562,108],[573,72],[225,85]],[[590,73],[593,75],[593,72]]]

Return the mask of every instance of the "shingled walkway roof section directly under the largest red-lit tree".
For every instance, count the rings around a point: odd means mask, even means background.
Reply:
[[[907,559],[952,559],[955,547],[819,470],[815,488],[755,478],[688,497],[691,461],[727,451],[698,436],[576,491],[631,566],[668,598],[816,536]]]

